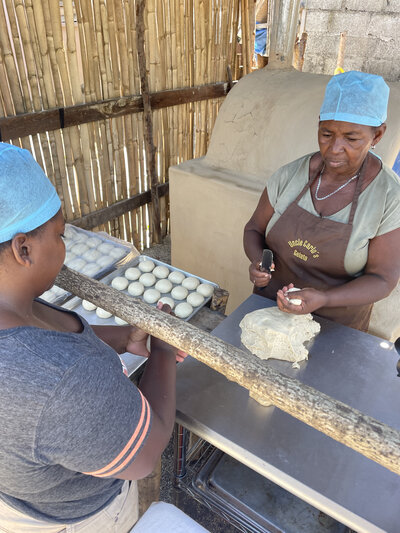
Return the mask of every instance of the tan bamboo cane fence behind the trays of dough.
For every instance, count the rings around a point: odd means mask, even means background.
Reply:
[[[143,75],[150,93],[226,82],[228,66],[238,78],[238,25],[245,15],[245,27],[251,27],[244,11],[250,4],[254,1],[0,0],[0,122],[143,96]],[[245,41],[248,49],[251,36]],[[150,109],[153,176],[142,112],[1,140],[33,153],[55,185],[67,221],[74,221],[152,187],[154,192],[167,181],[171,165],[204,155],[221,103],[214,98]],[[168,197],[159,203],[165,235]],[[146,204],[96,229],[143,249],[154,238],[152,226],[152,204]]]

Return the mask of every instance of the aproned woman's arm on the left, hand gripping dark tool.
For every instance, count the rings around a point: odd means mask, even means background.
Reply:
[[[250,281],[256,287],[265,287],[271,279],[271,274],[261,272],[258,264],[265,248],[265,230],[273,214],[274,208],[270,204],[267,189],[264,189],[256,210],[244,227],[243,234],[244,251],[251,261],[249,267]]]

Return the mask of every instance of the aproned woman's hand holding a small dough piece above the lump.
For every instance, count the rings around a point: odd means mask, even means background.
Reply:
[[[327,304],[328,298],[323,291],[317,289],[306,288],[300,291],[288,292],[293,288],[293,283],[282,287],[276,293],[276,303],[281,311],[291,313],[293,315],[306,315],[312,313]],[[289,298],[289,300],[288,300]],[[290,303],[290,299],[301,300],[301,305]]]

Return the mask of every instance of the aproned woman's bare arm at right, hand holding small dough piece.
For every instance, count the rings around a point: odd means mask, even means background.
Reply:
[[[282,311],[294,314],[312,313],[320,307],[371,304],[386,298],[396,287],[399,277],[400,229],[396,229],[370,241],[362,276],[326,291],[307,288],[288,295],[303,300],[302,305],[290,304],[285,297],[288,287],[283,287],[277,293],[277,304]]]

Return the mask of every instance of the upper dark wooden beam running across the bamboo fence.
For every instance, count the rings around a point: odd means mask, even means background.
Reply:
[[[227,83],[212,83],[197,87],[171,89],[150,93],[149,101],[152,109],[161,109],[188,102],[199,102],[211,98],[221,98],[228,94]],[[24,113],[0,118],[0,141],[8,141],[45,133],[70,126],[79,126],[88,122],[96,122],[108,118],[120,117],[143,111],[143,98],[140,95],[112,98],[90,104],[79,104],[59,109],[46,109],[35,113]]]

